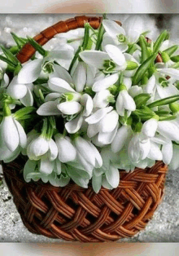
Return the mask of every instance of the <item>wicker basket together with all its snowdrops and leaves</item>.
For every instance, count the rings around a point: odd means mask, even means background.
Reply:
[[[154,214],[179,166],[179,56],[147,33],[79,16],[2,46],[0,160],[30,232],[115,241]]]

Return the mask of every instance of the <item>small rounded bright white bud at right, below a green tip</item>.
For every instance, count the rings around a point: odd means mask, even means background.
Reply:
[[[155,118],[151,118],[143,124],[142,133],[146,135],[146,137],[154,137],[157,127],[158,121]]]

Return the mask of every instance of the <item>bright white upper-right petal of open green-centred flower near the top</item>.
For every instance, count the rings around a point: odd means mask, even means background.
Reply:
[[[123,66],[125,64],[125,57],[118,47],[113,45],[107,45],[105,46],[105,50],[107,51],[107,54],[111,57],[111,60],[113,60],[116,64],[118,64],[119,66]]]

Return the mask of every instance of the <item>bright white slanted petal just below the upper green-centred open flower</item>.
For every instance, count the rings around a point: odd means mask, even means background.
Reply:
[[[92,89],[96,92],[105,90],[110,86],[112,86],[118,80],[118,78],[119,78],[119,74],[117,73],[104,77],[103,79],[100,79],[97,82],[94,82]]]

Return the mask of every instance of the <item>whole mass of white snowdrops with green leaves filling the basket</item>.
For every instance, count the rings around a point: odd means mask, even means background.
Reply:
[[[26,160],[24,179],[116,188],[119,170],[179,167],[179,55],[139,16],[61,33],[25,64],[0,55],[0,160]],[[25,40],[13,34],[20,50]]]

